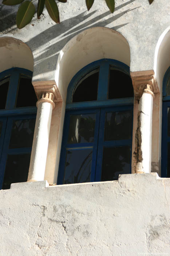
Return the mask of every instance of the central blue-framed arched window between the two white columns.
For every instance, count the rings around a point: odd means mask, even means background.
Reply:
[[[134,91],[129,67],[103,59],[81,69],[67,90],[58,184],[131,173]]]

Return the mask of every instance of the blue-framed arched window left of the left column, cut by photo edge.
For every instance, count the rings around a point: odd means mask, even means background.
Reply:
[[[0,73],[0,188],[27,181],[36,118],[32,72],[11,68]]]

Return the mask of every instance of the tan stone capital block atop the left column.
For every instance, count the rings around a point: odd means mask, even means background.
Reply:
[[[54,103],[62,101],[59,89],[54,80],[32,82],[37,98],[40,99],[43,93],[54,94]]]

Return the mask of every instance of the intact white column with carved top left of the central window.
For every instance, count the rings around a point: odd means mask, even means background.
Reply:
[[[53,100],[53,93],[43,93],[36,104],[37,116],[28,172],[28,181],[44,180],[52,109],[55,107]]]

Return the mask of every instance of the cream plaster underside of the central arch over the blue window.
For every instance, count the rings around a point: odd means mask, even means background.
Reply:
[[[130,47],[120,33],[106,27],[93,27],[73,37],[60,51],[55,81],[63,101],[72,77],[87,64],[114,59],[130,66]]]

